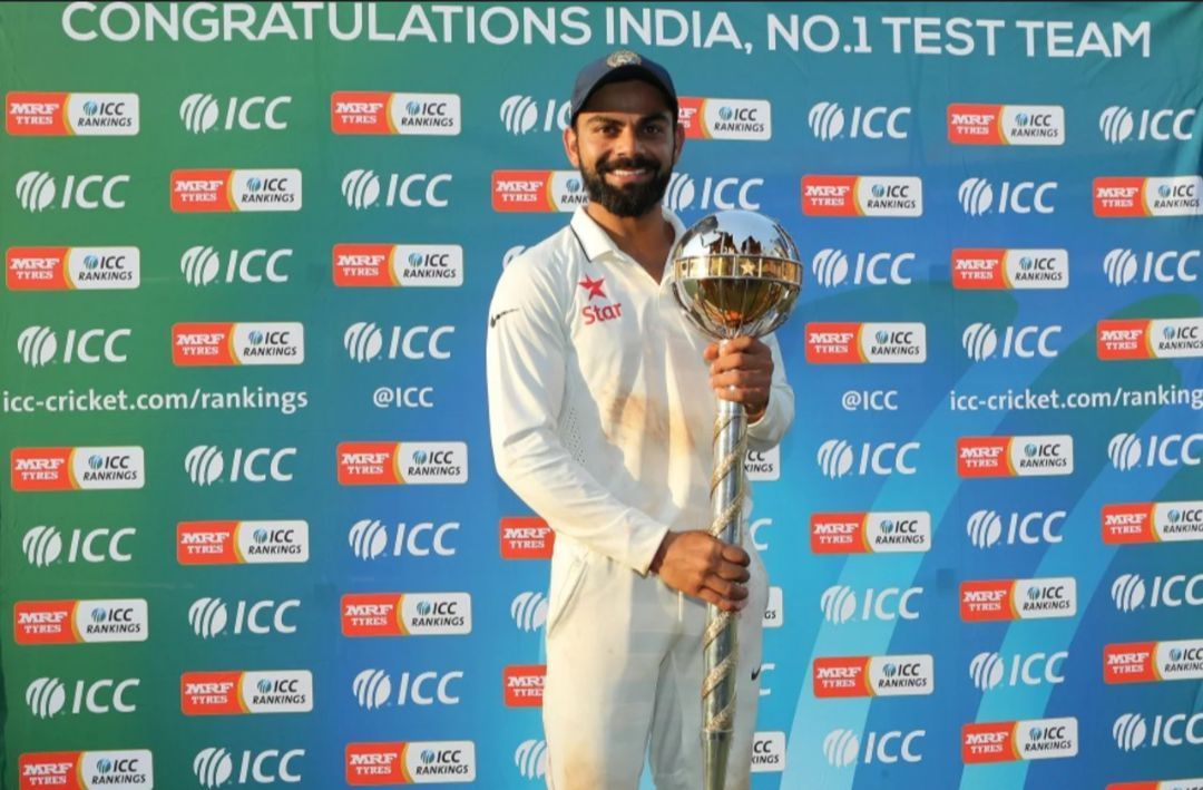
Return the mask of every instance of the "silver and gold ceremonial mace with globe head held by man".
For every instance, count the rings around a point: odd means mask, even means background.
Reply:
[[[672,260],[672,291],[686,317],[709,337],[761,337],[789,317],[802,284],[798,247],[774,219],[752,211],[721,211],[681,237]],[[747,481],[747,412],[718,401],[710,533],[733,544],[743,540]],[[723,790],[735,729],[737,615],[710,605],[703,636],[703,788]]]

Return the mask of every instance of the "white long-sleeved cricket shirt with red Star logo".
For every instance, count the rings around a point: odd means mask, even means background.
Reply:
[[[664,217],[680,241],[681,220]],[[515,258],[488,311],[493,459],[502,479],[556,531],[645,574],[668,530],[710,525],[717,399],[710,341],[662,282],[577,208]],[[748,446],[778,443],[794,393],[770,335],[769,407]]]

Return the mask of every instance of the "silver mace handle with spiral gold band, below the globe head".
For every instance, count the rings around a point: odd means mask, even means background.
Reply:
[[[747,494],[743,458],[747,455],[747,411],[742,403],[718,401],[715,419],[715,466],[710,476],[710,533],[740,546],[743,535],[743,497]],[[736,613],[706,606],[703,635],[701,736],[703,788],[723,790],[727,759],[735,729]]]

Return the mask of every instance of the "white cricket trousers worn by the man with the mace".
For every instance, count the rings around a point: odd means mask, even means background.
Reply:
[[[556,536],[543,724],[551,790],[635,790],[651,742],[658,790],[701,788],[701,635],[706,605]],[[764,565],[751,540],[739,615],[735,737],[727,788],[749,784],[760,696]],[[755,678],[753,679],[753,673]]]

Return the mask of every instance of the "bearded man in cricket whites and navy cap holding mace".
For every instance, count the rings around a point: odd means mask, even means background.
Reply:
[[[743,403],[749,447],[769,449],[793,391],[774,340],[719,349],[672,296],[685,228],[660,199],[685,141],[668,72],[616,52],[581,70],[570,108],[588,206],[506,267],[487,341],[497,470],[556,531],[547,785],[634,789],[650,741],[657,788],[701,786],[709,602],[742,611],[727,786],[746,788],[768,579],[754,549],[706,532],[715,395]]]

